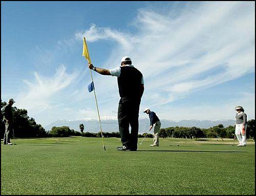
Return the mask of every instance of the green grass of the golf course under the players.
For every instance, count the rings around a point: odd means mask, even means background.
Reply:
[[[255,194],[252,141],[142,139],[137,152],[116,151],[120,138],[2,142],[1,194]]]

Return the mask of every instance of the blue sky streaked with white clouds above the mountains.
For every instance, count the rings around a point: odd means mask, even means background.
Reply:
[[[1,2],[1,98],[42,125],[97,118],[95,66],[131,56],[145,107],[161,119],[255,118],[254,2]],[[102,119],[116,118],[116,77],[93,72]]]

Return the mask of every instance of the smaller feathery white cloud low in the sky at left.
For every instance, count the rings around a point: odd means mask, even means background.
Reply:
[[[52,109],[57,104],[56,97],[75,82],[78,74],[78,71],[68,74],[64,65],[60,65],[52,77],[40,76],[34,72],[33,81],[23,80],[28,88],[17,95],[17,107],[31,112]]]

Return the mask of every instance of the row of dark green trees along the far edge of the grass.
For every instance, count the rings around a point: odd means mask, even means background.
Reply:
[[[6,105],[6,102],[1,101],[1,108]],[[101,133],[83,132],[84,125],[80,124],[80,132],[70,129],[67,126],[52,127],[50,131],[46,131],[40,124],[37,124],[35,119],[28,116],[26,109],[18,109],[13,107],[14,125],[13,131],[15,137],[68,137],[68,136],[82,136],[82,137],[101,137]],[[217,125],[208,129],[201,129],[197,127],[168,127],[162,128],[159,133],[161,138],[234,138],[234,126],[224,127]],[[251,119],[247,122],[247,138],[255,138],[255,120]],[[4,137],[5,124],[3,122],[3,115],[1,113],[1,138]],[[146,133],[138,134],[138,137],[145,137]],[[104,137],[118,137],[119,132],[103,132]],[[146,137],[153,137],[152,134],[147,134]]]

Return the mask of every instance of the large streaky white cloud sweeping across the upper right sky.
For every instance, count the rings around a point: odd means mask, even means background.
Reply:
[[[129,44],[114,49],[106,65],[118,65],[119,57],[128,51],[143,72],[148,90],[163,89],[169,95],[162,103],[173,102],[184,93],[254,72],[254,7],[242,2],[198,5],[194,11],[184,7],[175,18],[169,14],[174,10],[161,14],[141,9],[133,21],[138,34],[132,36],[93,25],[76,37],[87,35],[89,41],[97,41],[122,35],[119,42]],[[216,68],[222,71],[205,75]],[[198,76],[202,79],[195,80]]]

